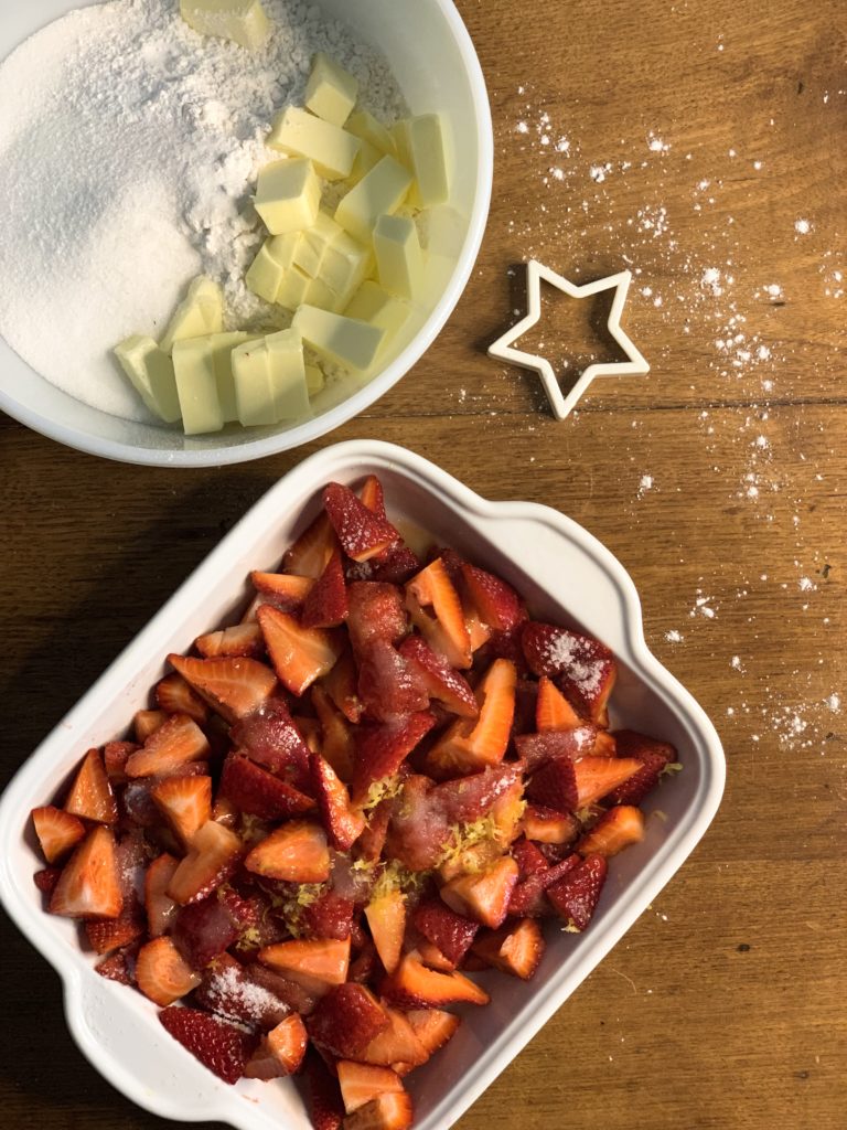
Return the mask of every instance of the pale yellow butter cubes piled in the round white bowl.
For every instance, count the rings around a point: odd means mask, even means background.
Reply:
[[[193,0],[194,15],[202,7]],[[255,5],[242,7],[255,15]],[[318,53],[305,108],[286,107],[267,139],[285,157],[259,174],[254,205],[269,235],[245,284],[288,311],[290,328],[224,332],[221,288],[201,276],[159,342],[134,336],[116,347],[145,405],[186,435],[308,417],[324,373],[304,345],[321,364],[369,379],[435,297],[414,217],[448,198],[442,120],[422,114],[387,129],[356,111],[357,97],[357,80]],[[325,182],[342,190],[332,211],[322,207]]]

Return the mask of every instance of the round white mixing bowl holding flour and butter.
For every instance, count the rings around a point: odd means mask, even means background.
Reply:
[[[91,2],[0,5],[0,58],[40,27]],[[413,338],[372,381],[309,420],[294,427],[229,428],[190,437],[173,428],[120,419],[75,400],[35,373],[0,338],[0,409],[52,440],[122,462],[168,467],[238,463],[296,447],[339,427],[378,400],[428,349],[464,289],[488,216],[494,140],[482,70],[452,0],[318,2],[329,16],[346,21],[383,52],[412,113],[438,112],[449,123],[456,155],[449,203],[461,217],[461,250],[431,313]]]

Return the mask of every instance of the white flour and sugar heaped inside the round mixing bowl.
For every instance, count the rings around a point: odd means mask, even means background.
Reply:
[[[111,0],[50,24],[0,66],[0,334],[51,383],[149,418],[111,357],[159,334],[186,282],[225,288],[230,325],[283,324],[244,287],[262,234],[250,201],[312,54],[402,113],[387,66],[316,5],[267,0],[257,51],[198,35],[174,0]]]

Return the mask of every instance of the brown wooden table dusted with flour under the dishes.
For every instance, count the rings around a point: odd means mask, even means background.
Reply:
[[[483,495],[584,523],[715,720],[728,784],[661,898],[459,1124],[842,1130],[844,7],[460,8],[496,129],[478,267],[416,370],[308,451],[403,443]],[[625,324],[653,365],[562,424],[533,375],[482,348],[533,255],[574,280],[631,267]],[[602,304],[578,306],[550,303],[524,342],[571,372],[614,356]],[[147,470],[0,426],[6,775],[307,452]],[[82,1060],[55,976],[8,924],[0,971],[5,1125],[160,1124]]]

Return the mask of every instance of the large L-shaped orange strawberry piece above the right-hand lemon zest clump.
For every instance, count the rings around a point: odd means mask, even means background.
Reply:
[[[427,765],[434,775],[473,773],[501,762],[508,749],[515,716],[515,664],[497,659],[477,689],[479,718],[460,719],[430,749]]]

